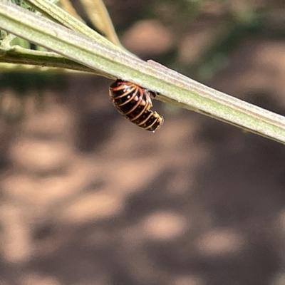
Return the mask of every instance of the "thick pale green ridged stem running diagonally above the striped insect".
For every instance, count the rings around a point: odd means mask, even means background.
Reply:
[[[159,92],[160,100],[196,110],[285,143],[285,118],[209,88],[159,63],[144,62],[112,43],[95,41],[0,0],[0,28],[89,68]],[[107,93],[107,92],[106,92]]]

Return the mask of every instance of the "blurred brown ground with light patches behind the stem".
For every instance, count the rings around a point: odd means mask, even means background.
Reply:
[[[284,1],[105,4],[141,58],[284,115]],[[284,145],[158,101],[141,130],[110,83],[1,72],[0,284],[285,284]]]

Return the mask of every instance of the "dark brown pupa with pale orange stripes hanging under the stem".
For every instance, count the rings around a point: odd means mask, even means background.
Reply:
[[[140,128],[154,132],[163,124],[162,116],[150,110],[155,92],[118,79],[110,85],[109,93],[120,114]]]

